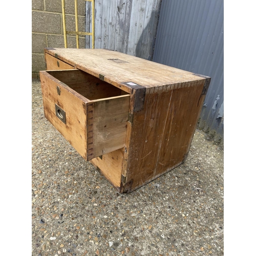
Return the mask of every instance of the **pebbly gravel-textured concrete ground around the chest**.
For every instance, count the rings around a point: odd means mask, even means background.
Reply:
[[[32,255],[223,255],[223,148],[196,130],[184,164],[116,189],[44,117],[32,82]]]

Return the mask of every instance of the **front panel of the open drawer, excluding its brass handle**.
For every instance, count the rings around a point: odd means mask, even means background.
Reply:
[[[45,117],[75,150],[86,158],[86,113],[83,108],[86,99],[75,94],[69,87],[62,86],[57,79],[45,71],[40,71],[40,80]],[[57,93],[57,86],[60,88],[60,95]],[[66,124],[56,116],[55,104],[66,112]]]

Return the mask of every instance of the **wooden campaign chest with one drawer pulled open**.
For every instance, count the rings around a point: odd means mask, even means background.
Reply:
[[[185,161],[209,77],[106,49],[45,57],[45,117],[120,193]]]

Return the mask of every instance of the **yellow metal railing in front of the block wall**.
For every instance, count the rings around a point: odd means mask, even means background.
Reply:
[[[65,13],[65,0],[61,0],[62,5],[62,21],[63,21],[63,35],[64,35],[64,45],[68,48],[67,34],[76,35],[76,48],[79,48],[79,35],[91,35],[92,36],[92,49],[94,49],[94,0],[84,0],[87,2],[92,2],[92,32],[79,32],[78,31],[78,12],[77,12],[77,0],[75,0],[75,23],[76,31],[66,30],[66,13]]]

